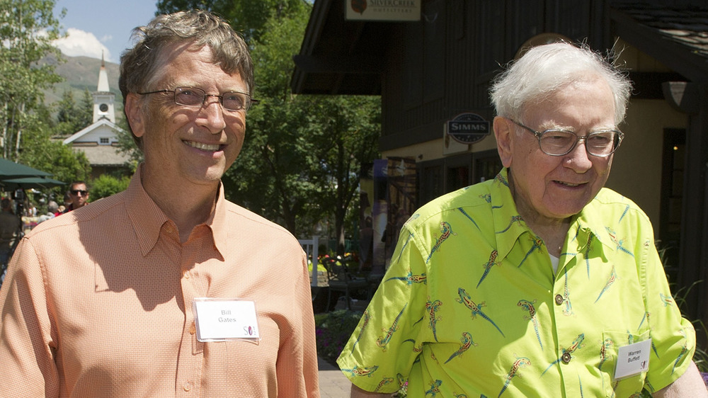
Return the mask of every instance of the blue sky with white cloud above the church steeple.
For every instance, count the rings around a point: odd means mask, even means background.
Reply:
[[[59,19],[68,38],[55,45],[64,55],[101,59],[118,63],[120,53],[132,44],[130,33],[155,15],[156,0],[57,0],[55,16],[62,8],[67,15]]]

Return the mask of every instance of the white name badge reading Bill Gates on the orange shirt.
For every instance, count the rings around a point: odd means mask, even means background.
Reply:
[[[197,297],[193,309],[199,341],[261,339],[253,301]]]

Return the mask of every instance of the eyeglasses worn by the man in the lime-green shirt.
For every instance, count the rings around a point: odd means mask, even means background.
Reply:
[[[619,148],[619,144],[624,138],[624,133],[619,130],[601,130],[590,132],[588,135],[577,135],[574,132],[559,129],[538,132],[515,120],[509,120],[535,135],[541,151],[552,157],[561,157],[571,153],[580,140],[585,142],[588,154],[594,157],[608,157]]]

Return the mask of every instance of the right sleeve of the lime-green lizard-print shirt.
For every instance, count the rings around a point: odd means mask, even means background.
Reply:
[[[681,316],[671,295],[661,258],[654,246],[653,231],[648,219],[642,219],[637,244],[644,247],[636,252],[642,281],[644,300],[651,330],[651,353],[646,385],[653,391],[661,390],[678,379],[690,365],[696,348],[692,324]]]

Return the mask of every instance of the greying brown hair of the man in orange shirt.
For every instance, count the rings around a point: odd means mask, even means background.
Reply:
[[[213,13],[201,10],[179,11],[156,16],[145,26],[133,29],[135,45],[120,56],[118,86],[123,96],[123,107],[128,93],[154,89],[150,87],[169,61],[171,45],[185,44],[195,49],[207,45],[212,51],[212,62],[227,74],[238,73],[253,91],[253,62],[244,39],[231,25]],[[140,146],[140,140],[133,135]]]

